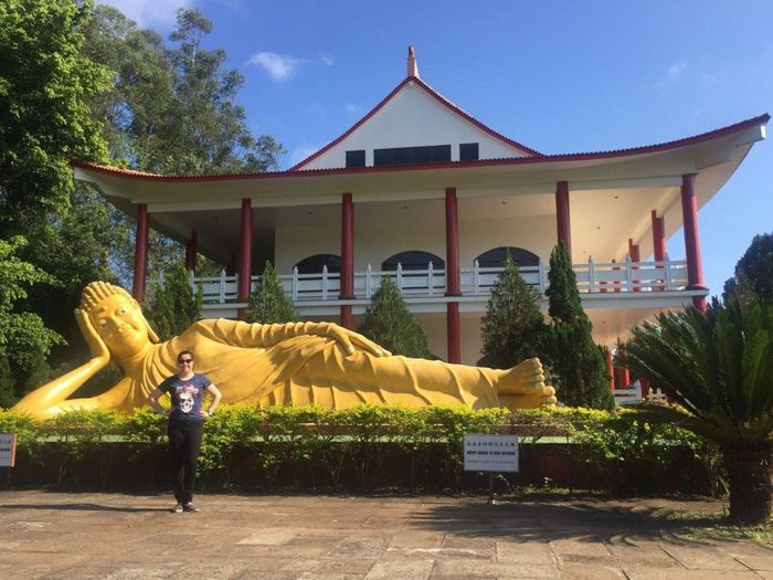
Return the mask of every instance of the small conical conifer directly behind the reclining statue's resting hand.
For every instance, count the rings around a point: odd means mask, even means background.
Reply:
[[[432,358],[424,329],[407,309],[398,286],[390,277],[381,278],[381,285],[373,294],[357,331],[393,355]]]

